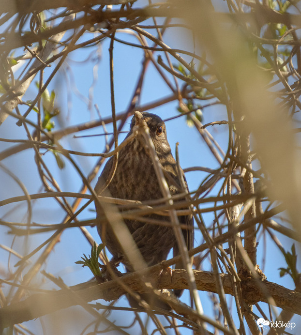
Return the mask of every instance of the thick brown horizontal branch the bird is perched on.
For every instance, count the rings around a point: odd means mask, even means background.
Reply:
[[[187,275],[184,270],[173,270],[172,279],[169,272],[163,272],[158,276],[158,266],[153,267],[151,281],[157,289],[188,289]],[[198,290],[216,293],[214,274],[207,271],[194,271],[196,286]],[[233,295],[230,277],[220,274],[226,294]],[[145,285],[141,283],[140,275],[127,274],[119,278],[127,287],[133,291],[143,292]],[[150,276],[148,276],[148,281]],[[276,305],[293,313],[301,315],[301,293],[286,289],[283,286],[262,282],[265,292],[258,289],[256,282],[252,279],[241,282],[243,299],[248,305],[256,302],[267,303],[267,295],[271,295]],[[12,324],[39,318],[45,314],[79,305],[83,301],[90,302],[96,299],[107,301],[118,299],[125,290],[111,280],[102,284],[95,281],[78,284],[70,287],[70,290],[58,290],[50,293],[38,293],[30,296],[24,301],[0,309],[0,325],[3,328]]]

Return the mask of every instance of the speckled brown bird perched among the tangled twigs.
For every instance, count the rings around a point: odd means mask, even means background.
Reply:
[[[167,140],[166,124],[158,115],[136,111],[130,124],[130,131],[124,141],[127,141],[128,137],[133,134],[135,125],[139,124],[142,118],[149,128],[150,138],[161,163],[171,196],[188,191],[184,172],[181,168],[178,171],[177,162],[172,155]],[[163,198],[150,152],[142,135],[138,132],[125,146],[120,145],[120,147],[117,166],[114,164],[114,157],[107,161],[94,189],[96,195],[138,201]],[[115,171],[113,171],[114,168]],[[184,191],[181,187],[181,176],[179,176],[179,173],[184,179],[186,188]],[[112,254],[113,259],[121,259],[126,271],[133,272],[134,266],[123,251],[122,241],[116,238],[110,224],[104,222],[106,204],[100,201],[95,201],[94,203],[96,208],[96,226],[101,240]],[[139,221],[139,219],[127,218],[124,219],[124,224],[128,228],[147,266],[166,260],[172,248],[174,256],[177,256],[179,247],[169,216],[151,213],[146,217],[163,224],[156,225],[155,223]],[[190,250],[193,248],[194,242],[193,217],[189,214],[178,218],[179,222],[185,226],[182,228],[182,233],[187,249]],[[182,263],[176,264],[176,268],[183,268]],[[177,290],[176,294],[178,296],[181,295],[181,290]]]

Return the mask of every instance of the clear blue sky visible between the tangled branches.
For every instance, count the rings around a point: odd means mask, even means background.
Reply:
[[[137,1],[135,6],[142,6],[145,4],[144,1]],[[158,19],[158,23],[160,20]],[[143,24],[152,24],[149,19]],[[155,32],[152,31],[154,34]],[[97,33],[96,33],[97,34]],[[67,36],[67,35],[66,35]],[[92,37],[92,33],[85,33],[82,40],[89,39]],[[136,38],[124,31],[117,32],[117,38],[137,43]],[[183,30],[167,29],[164,34],[164,41],[171,47],[177,47],[184,50],[193,50],[193,41],[189,32],[183,33]],[[57,107],[60,108],[60,115],[54,119],[55,128],[58,130],[64,128],[67,125],[75,125],[90,120],[98,119],[97,112],[94,108],[94,104],[97,104],[102,117],[111,115],[111,104],[110,104],[110,86],[109,86],[109,39],[105,39],[104,42],[98,46],[84,48],[82,50],[76,50],[69,54],[66,63],[61,67],[60,71],[54,77],[49,91],[55,90],[57,96]],[[150,46],[152,45],[151,42]],[[18,50],[20,54],[23,50]],[[157,59],[159,53],[155,54]],[[163,60],[166,62],[164,55],[161,53]],[[191,59],[187,56],[183,56],[186,61]],[[121,113],[125,111],[130,103],[137,78],[141,71],[141,63],[143,59],[143,51],[136,49],[133,46],[122,45],[118,42],[114,43],[114,77],[115,77],[115,103],[116,112]],[[177,61],[172,59],[174,64]],[[45,70],[45,78],[53,71],[54,65],[51,68]],[[171,82],[173,78],[166,74]],[[35,80],[36,81],[36,80]],[[23,100],[30,100],[36,95],[35,85],[31,85],[27,91],[26,96]],[[148,104],[154,100],[166,97],[170,95],[170,89],[166,83],[162,80],[160,75],[155,70],[154,66],[150,63],[147,73],[145,76],[140,105]],[[207,104],[206,101],[200,101],[200,105]],[[177,111],[178,103],[172,102],[149,110],[151,113],[155,113],[161,116],[162,119],[167,119],[172,116],[178,115]],[[20,108],[23,114],[26,107]],[[203,112],[203,123],[212,121],[226,120],[226,109],[224,106],[213,106],[202,110]],[[36,114],[34,111],[30,112],[28,117],[33,122],[36,121]],[[130,119],[124,126],[124,130],[129,130]],[[181,117],[172,121],[166,122],[167,138],[170,143],[172,152],[175,153],[176,142],[180,143],[179,153],[181,167],[188,168],[194,166],[206,167],[206,168],[218,168],[219,164],[209,151],[206,144],[202,141],[199,133],[194,128],[189,128],[185,122],[185,118]],[[212,134],[214,139],[218,141],[219,145],[224,151],[228,145],[228,131],[224,125],[218,125],[207,128]],[[107,126],[107,130],[111,131],[112,127]],[[32,131],[32,129],[31,129]],[[76,135],[90,135],[103,133],[101,127],[93,128],[89,131],[77,133]],[[120,134],[119,142],[126,136],[126,134]],[[0,137],[4,138],[27,138],[23,127],[15,125],[15,119],[7,118],[5,123],[0,127]],[[111,136],[109,136],[109,139]],[[89,137],[89,138],[73,138],[73,135],[64,137],[60,143],[66,149],[81,151],[81,152],[104,152],[105,150],[105,138],[100,137]],[[0,151],[11,144],[0,141]],[[81,188],[80,176],[76,173],[75,169],[68,163],[64,169],[58,168],[54,156],[51,152],[45,153],[43,156],[46,164],[54,175],[54,178],[60,184],[60,188],[67,192],[78,192]],[[80,157],[74,156],[75,162],[79,165],[85,175],[88,175],[97,161],[97,157]],[[3,162],[6,168],[9,168],[25,185],[30,194],[43,192],[41,189],[41,182],[38,176],[36,164],[34,161],[33,150],[26,150],[19,152],[18,154],[6,158]],[[99,175],[99,174],[98,174]],[[201,181],[207,176],[203,172],[189,172],[186,173],[186,179],[190,191],[197,189]],[[0,200],[18,195],[23,195],[20,187],[0,169]],[[95,185],[97,178],[91,183]],[[219,187],[221,183],[218,183]],[[216,191],[216,188],[215,188]],[[214,191],[213,191],[214,194]],[[36,205],[35,205],[36,203]],[[72,199],[70,199],[72,203]],[[32,221],[37,223],[54,224],[60,223],[64,217],[64,212],[60,210],[57,203],[51,199],[40,199],[38,201],[32,201],[33,204],[33,216]],[[83,203],[82,203],[83,204]],[[206,204],[209,206],[211,204]],[[11,211],[10,211],[11,210]],[[12,204],[4,207],[0,207],[0,218],[6,221],[13,222],[25,222],[26,220],[27,206],[22,204]],[[87,210],[81,213],[78,217],[80,220],[91,219],[95,217],[94,205],[91,204]],[[212,224],[212,214],[204,214],[205,223],[210,226]],[[283,222],[282,222],[283,223]],[[93,238],[97,243],[100,243],[97,231],[95,227],[87,227]],[[13,235],[7,234],[7,228],[0,226],[0,244],[12,246],[17,252],[26,254],[37,247],[41,241],[46,240],[52,233],[39,234],[38,236],[31,236],[29,239],[19,237],[14,240]],[[281,243],[286,250],[290,249],[292,241],[284,236],[280,236]],[[13,241],[14,240],[14,241]],[[283,255],[269,240],[260,237],[259,234],[259,245],[258,245],[258,264],[263,272],[267,275],[268,280],[283,285],[289,289],[294,289],[294,283],[290,277],[285,276],[280,278],[279,272],[275,271],[275,268],[286,267],[286,262]],[[202,237],[196,230],[195,246],[202,243]],[[81,234],[78,228],[71,228],[65,230],[61,235],[60,243],[58,243],[50,257],[46,261],[45,270],[52,273],[55,276],[63,278],[65,284],[71,286],[78,283],[85,282],[91,278],[91,273],[86,268],[82,268],[80,265],[75,264],[75,261],[79,260],[82,254],[90,254],[90,245]],[[266,257],[263,257],[266,253]],[[37,256],[33,257],[33,260]],[[8,260],[8,252],[0,248],[0,276],[4,275],[4,270],[7,268],[9,261],[11,271],[15,271],[14,265],[18,259],[12,256]],[[300,262],[299,262],[300,269]],[[211,271],[211,266],[208,261],[203,264],[203,270]],[[40,276],[41,277],[41,276]],[[47,287],[49,289],[49,287]],[[208,293],[200,292],[202,303],[204,304],[205,314],[211,315],[212,307],[211,301],[208,299]],[[187,302],[188,293],[185,292],[182,296],[182,300]],[[102,302],[104,303],[104,302]],[[117,305],[127,305],[125,298],[121,298]],[[206,306],[209,306],[206,308]],[[264,309],[268,313],[268,309]],[[255,309],[256,311],[256,309]],[[82,324],[88,324],[87,320],[93,320],[92,317],[86,312],[83,312],[81,307],[73,307],[69,310],[54,313],[52,316],[44,317],[45,327],[48,327],[47,334],[54,334],[57,330],[55,329],[55,322],[58,322],[60,318],[65,318],[70,313],[71,317],[76,316],[76,320],[79,322],[82,320]],[[237,322],[236,311],[233,309],[233,317]],[[90,319],[89,319],[90,318]],[[126,318],[124,312],[114,311],[110,315],[110,320]],[[163,318],[162,318],[163,320]],[[292,321],[298,322],[299,329],[301,329],[300,316],[295,316]],[[164,322],[164,321],[163,321]],[[30,321],[26,324],[30,324],[35,331],[39,330],[39,325],[36,321]],[[63,322],[61,322],[63,324]],[[236,323],[238,325],[238,323]],[[53,327],[53,330],[52,330]],[[68,329],[60,329],[62,334],[71,334],[72,326],[69,324]],[[298,329],[298,328],[297,328]],[[52,331],[51,331],[52,330]],[[135,334],[133,330],[132,334]],[[183,330],[183,334],[191,334],[186,329]],[[298,333],[292,333],[298,334]]]

